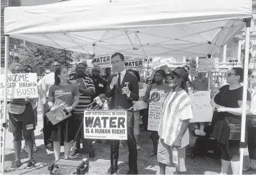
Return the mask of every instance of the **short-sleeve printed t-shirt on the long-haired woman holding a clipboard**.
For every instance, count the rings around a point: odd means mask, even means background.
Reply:
[[[73,104],[73,97],[79,96],[78,87],[75,84],[51,85],[49,97],[53,97],[55,107],[63,104],[70,107]]]

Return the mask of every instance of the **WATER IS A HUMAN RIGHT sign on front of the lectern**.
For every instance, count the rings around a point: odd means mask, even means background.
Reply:
[[[127,140],[127,111],[85,110],[85,138]]]

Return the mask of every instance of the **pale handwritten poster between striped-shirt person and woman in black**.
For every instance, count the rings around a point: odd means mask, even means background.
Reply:
[[[195,93],[192,93],[192,91],[189,91],[189,96],[194,117],[190,120],[190,123],[211,122],[213,118],[213,107],[211,107],[210,104],[210,92],[196,91]]]

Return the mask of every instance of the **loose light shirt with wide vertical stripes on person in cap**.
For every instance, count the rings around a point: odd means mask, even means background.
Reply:
[[[167,145],[173,145],[183,120],[192,119],[192,106],[190,97],[185,90],[178,93],[170,92],[165,98],[163,111],[160,118],[158,134]],[[186,130],[181,139],[181,148],[189,144],[189,130]]]

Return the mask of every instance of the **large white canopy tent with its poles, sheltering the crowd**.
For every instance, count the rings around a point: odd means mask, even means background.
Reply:
[[[244,19],[251,16],[251,0],[76,0],[7,7],[5,67],[9,36],[87,54],[204,57],[219,51],[246,26]],[[248,59],[249,23],[246,29]],[[246,61],[245,81],[247,68]],[[243,104],[246,93],[245,90]],[[244,108],[241,142],[244,142],[245,117]],[[241,160],[243,163],[243,156]]]

